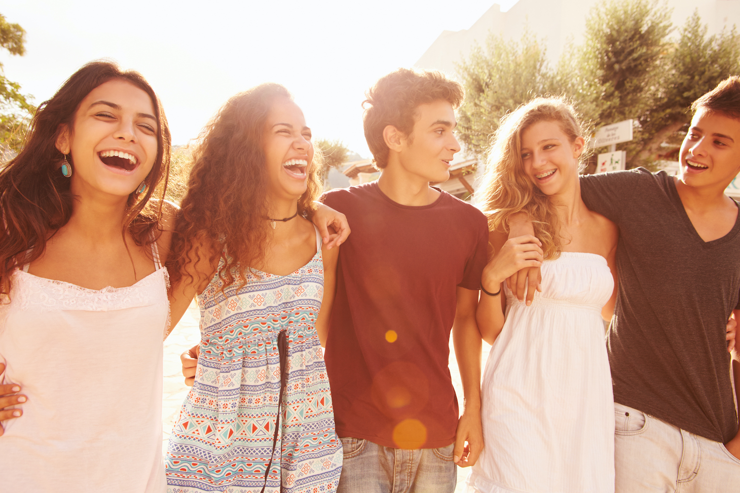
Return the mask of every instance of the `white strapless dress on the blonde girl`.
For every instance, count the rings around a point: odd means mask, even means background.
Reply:
[[[482,382],[485,449],[468,491],[613,493],[606,260],[573,252],[546,260],[542,293],[529,307],[504,289],[506,322]]]

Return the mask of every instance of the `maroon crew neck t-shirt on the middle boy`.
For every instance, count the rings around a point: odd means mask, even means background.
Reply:
[[[324,196],[352,230],[340,248],[324,356],[340,437],[397,449],[454,442],[456,290],[480,288],[488,222],[440,192],[418,207],[395,203],[376,182]]]

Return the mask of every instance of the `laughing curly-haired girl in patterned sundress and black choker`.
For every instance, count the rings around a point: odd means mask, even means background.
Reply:
[[[343,453],[317,327],[338,251],[306,219],[320,191],[313,154],[277,84],[231,98],[201,135],[170,267],[175,319],[197,293],[200,355],[169,439],[168,492],[337,488]]]

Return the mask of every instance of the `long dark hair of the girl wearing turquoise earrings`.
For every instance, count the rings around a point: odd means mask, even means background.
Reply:
[[[113,61],[92,61],[67,79],[53,98],[38,106],[23,149],[0,171],[0,214],[4,221],[4,228],[0,228],[0,294],[10,293],[13,269],[43,255],[49,234],[70,220],[74,197],[70,180],[58,169],[64,156],[56,149],[56,140],[65,126],[73,127],[75,112],[90,91],[113,79],[128,81],[146,92],[158,123],[157,157],[144,180],[147,191],[129,195],[122,233],[129,231],[137,245],[147,245],[158,237],[162,201],[150,203],[149,199],[154,193],[164,197],[167,186],[171,141],[164,110],[140,73],[124,71]]]

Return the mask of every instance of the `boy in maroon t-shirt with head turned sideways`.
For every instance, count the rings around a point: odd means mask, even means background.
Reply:
[[[329,191],[346,214],[326,341],[338,492],[453,492],[454,465],[482,449],[481,339],[475,319],[487,260],[485,216],[439,188],[460,150],[460,84],[399,69],[369,90],[365,136],[377,182]],[[458,419],[449,337],[465,392]],[[468,445],[465,446],[465,441]],[[377,485],[377,486],[375,486]]]

